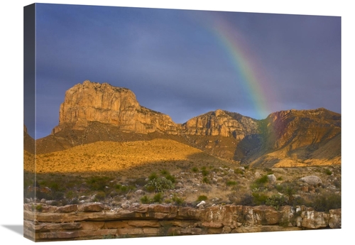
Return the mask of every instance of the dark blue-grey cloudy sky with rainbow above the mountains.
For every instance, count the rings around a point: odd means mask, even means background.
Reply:
[[[84,80],[129,88],[176,123],[216,109],[341,112],[339,16],[37,4],[35,38],[35,138]]]

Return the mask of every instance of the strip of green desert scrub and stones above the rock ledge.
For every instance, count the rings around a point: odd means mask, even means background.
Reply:
[[[309,168],[251,168],[236,163],[220,162],[216,165],[190,161],[187,165],[175,162],[163,168],[145,171],[140,176],[107,173],[102,175],[38,174],[26,173],[24,197],[51,205],[82,202],[102,202],[121,205],[170,204],[205,205],[268,205],[280,209],[283,205],[305,205],[320,212],[341,207],[340,165]],[[178,168],[178,170],[177,170]],[[330,173],[330,174],[329,174]],[[273,181],[268,175],[275,175]],[[321,185],[308,185],[300,181],[307,175],[317,175]],[[123,206],[122,206],[123,207]],[[40,211],[40,206],[33,208]]]

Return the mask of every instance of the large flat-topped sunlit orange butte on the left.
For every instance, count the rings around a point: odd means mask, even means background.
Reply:
[[[131,90],[87,80],[65,92],[65,100],[60,105],[59,125],[53,129],[53,134],[68,124],[72,129],[84,130],[95,121],[138,134],[155,131],[177,134],[178,129],[170,116],[141,107]]]

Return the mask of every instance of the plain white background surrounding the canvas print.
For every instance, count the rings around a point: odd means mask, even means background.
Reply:
[[[231,4],[234,2],[234,4]],[[244,11],[254,13],[293,13],[342,16],[342,229],[301,232],[265,232],[206,236],[175,236],[149,239],[112,239],[65,241],[65,244],[351,244],[354,221],[351,217],[354,137],[351,119],[354,112],[355,18],[349,0],[249,0],[249,1],[43,1],[53,4],[138,6],[165,9]],[[1,4],[0,65],[0,244],[30,244],[23,238],[23,6],[33,1],[6,1]],[[348,240],[349,239],[349,240]],[[64,242],[63,242],[64,243]],[[44,242],[42,244],[53,244]],[[55,244],[58,244],[56,242]],[[62,242],[60,242],[62,244]]]

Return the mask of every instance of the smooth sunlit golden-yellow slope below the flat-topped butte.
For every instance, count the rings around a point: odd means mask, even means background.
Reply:
[[[95,142],[65,151],[36,156],[36,173],[100,173],[129,170],[132,175],[177,166],[226,165],[207,153],[168,139],[131,142]],[[32,165],[25,170],[31,171]],[[136,171],[137,173],[133,173]]]

